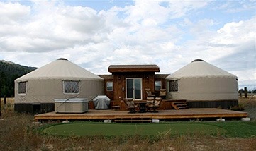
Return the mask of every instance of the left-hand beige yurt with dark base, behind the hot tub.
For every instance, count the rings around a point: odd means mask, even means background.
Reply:
[[[104,95],[104,80],[67,59],[57,59],[15,81],[14,109],[18,112],[54,111],[55,99]]]

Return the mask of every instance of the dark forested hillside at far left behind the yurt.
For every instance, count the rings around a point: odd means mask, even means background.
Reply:
[[[1,97],[14,96],[14,80],[35,70],[35,67],[21,66],[10,61],[0,60],[0,92]]]

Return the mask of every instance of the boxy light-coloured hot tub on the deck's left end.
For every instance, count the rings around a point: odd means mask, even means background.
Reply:
[[[88,111],[88,99],[54,99],[56,113],[84,113]]]

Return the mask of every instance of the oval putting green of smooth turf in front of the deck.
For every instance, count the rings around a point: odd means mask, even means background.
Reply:
[[[52,135],[160,135],[161,133],[226,133],[218,126],[199,123],[62,123],[50,126],[43,133]]]

